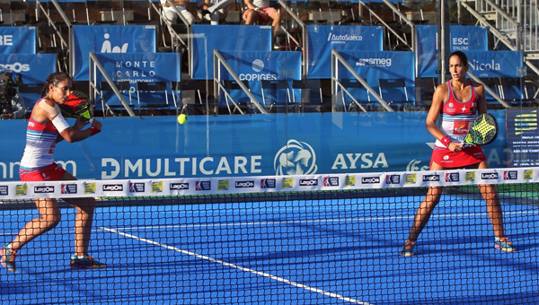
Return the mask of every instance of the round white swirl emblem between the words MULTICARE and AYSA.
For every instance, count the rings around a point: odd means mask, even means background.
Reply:
[[[316,173],[316,153],[305,142],[290,139],[275,155],[276,175],[309,175]]]

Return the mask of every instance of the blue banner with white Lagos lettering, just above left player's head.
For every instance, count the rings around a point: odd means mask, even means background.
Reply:
[[[0,73],[21,74],[22,83],[45,83],[56,72],[56,54],[9,54],[0,58]]]

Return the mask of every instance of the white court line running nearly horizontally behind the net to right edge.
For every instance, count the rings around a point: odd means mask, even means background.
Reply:
[[[539,210],[535,211],[520,211],[520,212],[504,212],[507,214],[531,214],[539,213]],[[447,213],[447,214],[434,214],[431,218],[458,218],[458,217],[470,217],[470,216],[486,216],[488,213]],[[320,224],[331,222],[367,222],[367,221],[392,221],[413,219],[414,215],[408,216],[384,216],[384,217],[359,217],[359,218],[337,218],[337,219],[317,219],[317,220],[298,220],[298,221],[282,221],[282,222],[229,222],[229,223],[201,223],[201,224],[172,224],[172,225],[152,225],[152,226],[140,226],[140,227],[119,227],[116,230],[140,230],[140,229],[155,229],[155,228],[225,228],[225,227],[240,227],[240,226],[255,226],[255,225],[274,225],[274,224]]]

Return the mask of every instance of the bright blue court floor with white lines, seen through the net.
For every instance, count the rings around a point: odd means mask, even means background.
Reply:
[[[71,270],[75,212],[0,270],[3,304],[536,304],[539,208],[502,203],[517,252],[493,247],[483,201],[443,196],[400,257],[420,196],[98,207]],[[147,200],[147,199],[146,199]],[[35,210],[4,210],[11,241]]]

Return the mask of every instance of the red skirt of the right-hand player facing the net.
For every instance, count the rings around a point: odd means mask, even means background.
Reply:
[[[486,160],[487,157],[483,153],[481,146],[477,145],[466,148],[458,153],[451,152],[445,148],[435,147],[430,158],[431,163],[435,162],[446,169],[464,168]]]

